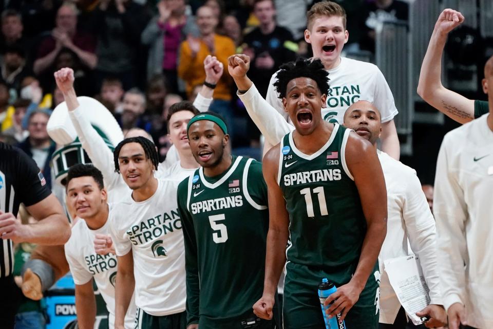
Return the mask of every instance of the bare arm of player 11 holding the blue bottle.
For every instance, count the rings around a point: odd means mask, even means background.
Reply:
[[[354,275],[325,301],[327,306],[332,304],[328,312],[332,316],[340,312],[341,319],[346,317],[365,288],[387,233],[387,190],[375,149],[370,142],[351,132],[345,156],[361,199],[367,230]]]

